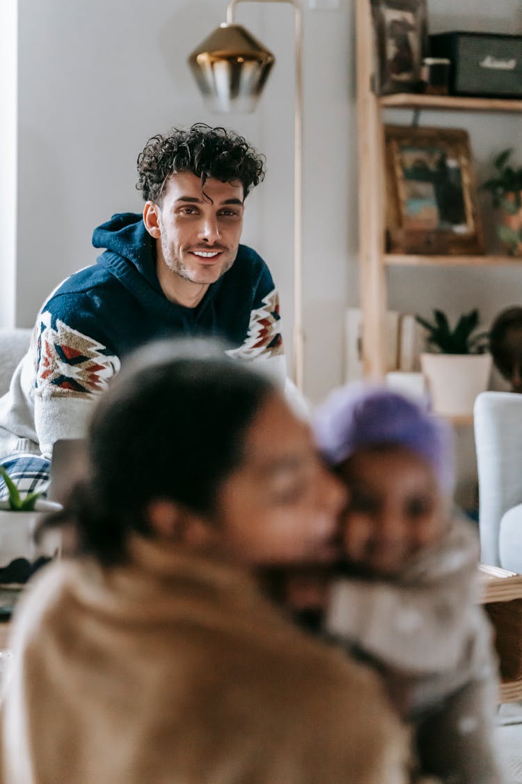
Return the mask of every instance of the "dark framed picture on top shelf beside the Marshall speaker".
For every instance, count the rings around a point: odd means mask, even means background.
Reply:
[[[426,0],[371,0],[377,95],[415,93],[427,56]]]

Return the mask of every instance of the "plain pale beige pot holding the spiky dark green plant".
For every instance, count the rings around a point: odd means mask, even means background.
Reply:
[[[420,367],[434,412],[472,416],[477,394],[488,389],[491,354],[421,354]]]

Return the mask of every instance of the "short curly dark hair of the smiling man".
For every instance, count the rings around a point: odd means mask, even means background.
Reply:
[[[197,122],[189,130],[173,128],[169,136],[152,136],[138,156],[136,187],[145,201],[160,202],[168,177],[192,172],[203,185],[209,177],[240,182],[246,197],[265,178],[265,156],[243,136]]]

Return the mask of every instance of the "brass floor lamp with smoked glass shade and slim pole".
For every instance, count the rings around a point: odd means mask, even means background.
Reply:
[[[226,22],[217,27],[189,56],[189,67],[211,111],[254,111],[265,87],[275,57],[249,31],[234,23],[231,0]],[[302,115],[303,89],[301,49],[303,28],[299,0],[248,0],[248,2],[286,2],[295,16],[295,103],[293,165],[293,380],[303,390],[304,332],[302,326]]]

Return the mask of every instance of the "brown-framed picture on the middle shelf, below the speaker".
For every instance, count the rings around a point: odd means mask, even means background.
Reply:
[[[467,132],[387,125],[384,133],[388,250],[483,253]]]

